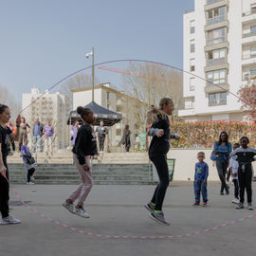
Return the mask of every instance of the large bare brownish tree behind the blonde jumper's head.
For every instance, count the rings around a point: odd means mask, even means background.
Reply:
[[[122,90],[131,96],[129,107],[123,106],[127,116],[135,115],[137,125],[145,126],[146,113],[151,105],[158,106],[162,98],[174,101],[174,119],[177,111],[183,107],[182,73],[157,64],[137,64],[131,62],[127,74],[122,75]]]

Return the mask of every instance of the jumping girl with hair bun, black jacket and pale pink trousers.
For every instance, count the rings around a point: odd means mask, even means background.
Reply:
[[[89,108],[79,106],[77,112],[80,114],[83,123],[78,131],[72,152],[74,162],[80,174],[81,184],[65,200],[63,206],[72,213],[83,218],[89,218],[89,214],[83,209],[83,203],[93,186],[91,156],[97,155],[97,142],[91,124],[95,122],[95,118]],[[74,208],[73,202],[76,199],[78,199],[78,204]]]

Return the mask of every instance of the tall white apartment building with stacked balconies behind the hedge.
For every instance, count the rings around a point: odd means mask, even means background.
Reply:
[[[256,0],[194,0],[183,17],[185,120],[242,121],[236,94],[256,74]],[[206,82],[201,77],[219,86]]]

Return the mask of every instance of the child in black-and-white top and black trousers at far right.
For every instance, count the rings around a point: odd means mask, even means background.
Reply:
[[[248,210],[253,210],[251,204],[251,179],[252,179],[252,166],[251,162],[254,161],[256,155],[256,149],[248,147],[248,137],[241,137],[241,148],[233,151],[230,156],[238,161],[238,182],[239,182],[239,197],[240,203],[236,209],[243,209],[245,202],[245,190],[247,190],[247,204]]]

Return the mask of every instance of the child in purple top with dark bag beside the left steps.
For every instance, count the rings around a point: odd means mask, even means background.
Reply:
[[[21,147],[21,154],[23,155],[23,162],[25,165],[25,168],[27,170],[27,185],[33,185],[35,184],[33,180],[33,174],[35,172],[34,168],[34,158],[30,154],[30,150],[27,147],[28,139],[26,138],[24,140],[24,145]]]

